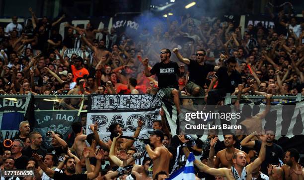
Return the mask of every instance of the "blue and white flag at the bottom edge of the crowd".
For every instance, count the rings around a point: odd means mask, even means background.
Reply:
[[[189,154],[186,165],[174,172],[166,180],[195,180],[193,161],[195,157],[193,153]]]

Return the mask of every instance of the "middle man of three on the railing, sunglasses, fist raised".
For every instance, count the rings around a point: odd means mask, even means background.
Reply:
[[[181,54],[178,53],[178,48],[173,49],[177,59],[188,65],[189,70],[189,80],[186,85],[186,90],[192,96],[204,96],[205,95],[205,80],[209,72],[217,71],[220,67],[213,64],[205,63],[206,51],[198,50],[196,53],[196,60],[189,60],[183,58]],[[196,102],[195,104],[205,104],[204,101]]]

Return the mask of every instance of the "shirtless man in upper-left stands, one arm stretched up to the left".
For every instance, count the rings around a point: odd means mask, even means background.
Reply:
[[[80,31],[79,34],[81,35],[81,39],[84,41],[84,43],[95,53],[96,58],[93,59],[92,66],[96,67],[98,61],[101,60],[102,57],[109,57],[111,56],[111,53],[104,49],[104,45],[101,46],[101,48],[97,48],[93,46],[86,37],[83,36],[83,31]]]

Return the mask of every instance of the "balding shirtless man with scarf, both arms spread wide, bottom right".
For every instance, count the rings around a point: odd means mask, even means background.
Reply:
[[[186,155],[186,157],[189,156],[190,151],[187,148],[186,144],[189,140],[185,139],[184,135],[178,136],[180,141],[183,143],[183,152]],[[198,160],[194,160],[194,164],[198,167],[200,171],[203,171],[204,173],[210,174],[212,176],[223,176],[226,177],[228,180],[251,180],[252,179],[252,171],[258,168],[262,162],[265,160],[265,154],[266,154],[266,137],[264,135],[261,135],[261,138],[263,139],[261,150],[259,157],[254,160],[253,163],[246,166],[246,155],[243,152],[237,152],[232,157],[233,166],[228,168],[210,168],[207,165],[204,165],[202,162]],[[238,178],[236,178],[238,177]]]

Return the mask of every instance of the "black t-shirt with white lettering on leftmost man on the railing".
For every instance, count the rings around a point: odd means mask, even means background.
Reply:
[[[177,75],[180,75],[178,64],[174,61],[169,63],[157,62],[150,70],[151,74],[156,74],[158,79],[158,88],[163,89],[171,87],[178,89]]]

